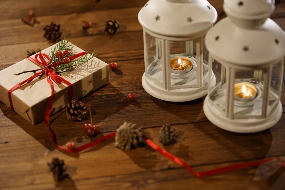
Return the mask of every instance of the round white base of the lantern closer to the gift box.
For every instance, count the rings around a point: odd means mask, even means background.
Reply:
[[[216,86],[216,76],[212,71],[211,87]],[[145,91],[160,100],[168,102],[187,102],[202,98],[208,93],[208,84],[198,88],[179,88],[175,90],[165,90],[157,85],[155,82],[150,80],[143,74],[142,85]]]

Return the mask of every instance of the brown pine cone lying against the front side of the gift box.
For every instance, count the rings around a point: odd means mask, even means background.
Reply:
[[[66,105],[67,118],[73,121],[81,121],[86,114],[86,107],[84,103],[72,100]]]

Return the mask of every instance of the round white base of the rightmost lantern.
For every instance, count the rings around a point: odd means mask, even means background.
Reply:
[[[206,117],[219,128],[235,133],[254,133],[266,130],[273,127],[281,118],[282,104],[276,106],[274,111],[270,112],[267,118],[242,118],[228,119],[223,116],[218,108],[209,102],[209,97],[206,96],[203,110]]]

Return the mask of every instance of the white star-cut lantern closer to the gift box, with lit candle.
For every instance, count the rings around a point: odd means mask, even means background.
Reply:
[[[217,20],[208,1],[149,0],[138,19],[143,26],[146,92],[165,101],[185,102],[207,94],[209,73],[209,86],[216,85],[203,61],[203,37]]]

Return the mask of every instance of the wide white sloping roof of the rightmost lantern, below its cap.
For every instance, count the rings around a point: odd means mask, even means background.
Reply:
[[[270,18],[252,30],[222,19],[205,36],[207,50],[238,65],[257,66],[277,61],[285,54],[285,32]]]

